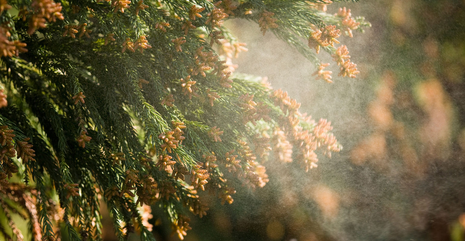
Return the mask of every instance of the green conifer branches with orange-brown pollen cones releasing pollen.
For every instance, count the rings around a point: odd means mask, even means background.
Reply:
[[[0,202],[9,224],[0,235],[23,239],[16,212],[35,240],[101,240],[103,199],[119,240],[154,240],[147,205],[162,207],[183,239],[188,214],[206,214],[198,191],[232,203],[226,177],[263,187],[272,150],[307,171],[316,151],[339,151],[326,120],[232,74],[233,56],[247,49],[223,26],[257,22],[319,65],[311,48],[337,54],[339,31],[362,26],[350,10],[326,13],[329,2],[0,1]]]

